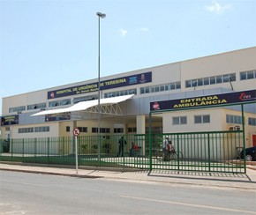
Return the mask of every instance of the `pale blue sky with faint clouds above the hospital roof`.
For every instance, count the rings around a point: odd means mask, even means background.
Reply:
[[[255,0],[0,0],[2,98],[256,46]]]

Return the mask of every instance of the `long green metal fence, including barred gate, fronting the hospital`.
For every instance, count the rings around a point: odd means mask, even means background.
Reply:
[[[119,154],[120,135],[78,137],[79,166],[118,167],[245,173],[243,132],[191,132],[162,135],[125,135],[124,156]],[[175,156],[162,159],[162,140],[169,137]],[[100,141],[100,144],[99,144]],[[132,142],[139,152],[131,153]],[[122,147],[121,147],[122,148]],[[0,160],[75,166],[74,137],[11,139],[6,148],[0,140]]]

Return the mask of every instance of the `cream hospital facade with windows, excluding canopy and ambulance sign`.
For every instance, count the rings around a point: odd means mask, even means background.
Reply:
[[[139,80],[143,74],[145,82]],[[75,127],[84,129],[81,135],[94,135],[97,113],[72,112],[64,120],[31,115],[44,109],[70,107],[79,100],[96,100],[95,83],[96,78],[4,98],[2,138],[66,137]],[[101,83],[106,87],[101,86],[102,98],[135,93],[132,99],[118,104],[122,115],[101,116],[102,135],[143,134],[149,127],[150,102],[256,90],[256,47],[125,72],[101,78]],[[54,98],[50,98],[51,93]],[[195,122],[196,117],[201,117],[202,122]],[[229,130],[236,125],[242,127],[239,117],[239,106],[172,111],[154,115],[152,127],[156,133]],[[185,122],[178,122],[184,119]],[[256,104],[245,105],[247,146],[256,145],[255,122]]]

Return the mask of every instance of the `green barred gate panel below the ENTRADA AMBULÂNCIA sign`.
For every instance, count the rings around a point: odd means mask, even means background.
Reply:
[[[245,173],[243,131],[171,133],[152,136],[150,169]],[[162,140],[169,137],[174,151],[164,160]]]

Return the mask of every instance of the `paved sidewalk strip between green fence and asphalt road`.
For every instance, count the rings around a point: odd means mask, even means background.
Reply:
[[[256,167],[248,166],[246,174],[196,173],[167,170],[120,171],[98,167],[44,167],[27,166],[22,163],[0,163],[0,170],[19,171],[34,174],[54,174],[80,178],[102,178],[108,180],[126,180],[130,182],[164,182],[215,188],[246,189],[256,192]],[[1,176],[0,176],[1,178]]]

